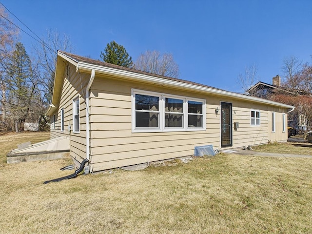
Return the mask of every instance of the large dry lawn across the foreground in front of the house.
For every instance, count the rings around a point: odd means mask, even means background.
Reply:
[[[312,159],[219,154],[58,183],[64,159],[0,167],[0,233],[312,233]]]

